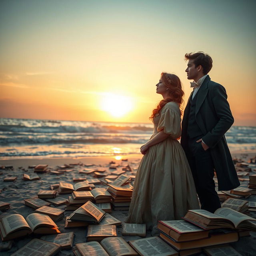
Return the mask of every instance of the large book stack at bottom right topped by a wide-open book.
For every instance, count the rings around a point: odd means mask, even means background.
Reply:
[[[256,220],[232,210],[219,208],[214,214],[206,210],[188,210],[184,220],[159,221],[160,238],[182,252],[196,253],[205,246],[236,242],[248,231],[256,231]],[[200,249],[201,250],[201,249]]]

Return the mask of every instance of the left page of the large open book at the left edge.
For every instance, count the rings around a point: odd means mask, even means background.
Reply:
[[[2,224],[4,226],[4,229],[6,231],[6,234],[9,234],[10,232],[22,228],[22,227],[28,227],[28,223],[24,219],[24,217],[20,214],[11,214],[9,216],[1,218]]]

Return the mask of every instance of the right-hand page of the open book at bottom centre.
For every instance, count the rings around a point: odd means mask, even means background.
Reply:
[[[100,244],[111,256],[138,255],[122,237],[104,238]]]

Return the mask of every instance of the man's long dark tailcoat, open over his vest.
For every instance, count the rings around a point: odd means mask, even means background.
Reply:
[[[240,185],[224,134],[232,126],[232,116],[225,88],[206,76],[196,100],[196,122],[204,136],[202,140],[210,148],[218,178],[218,190],[231,190]],[[192,97],[192,94],[190,95]],[[184,110],[180,144],[188,154],[188,116],[190,99]]]

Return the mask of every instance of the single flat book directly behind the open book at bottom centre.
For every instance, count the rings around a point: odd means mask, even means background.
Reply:
[[[115,225],[89,225],[87,228],[87,242],[101,241],[110,236],[117,236]]]

